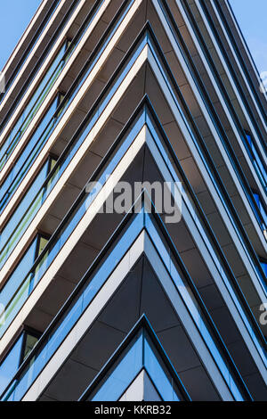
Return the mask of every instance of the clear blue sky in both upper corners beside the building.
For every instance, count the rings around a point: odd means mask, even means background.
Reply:
[[[3,69],[41,0],[0,1],[0,69]],[[258,70],[267,71],[267,1],[230,1]]]

